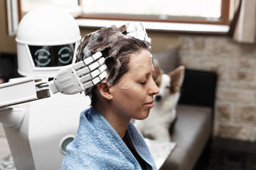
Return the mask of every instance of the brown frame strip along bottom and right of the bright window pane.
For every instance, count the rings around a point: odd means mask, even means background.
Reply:
[[[82,4],[82,0],[78,1],[78,4]],[[201,18],[181,18],[181,17],[169,17],[167,19],[160,19],[157,16],[117,16],[117,15],[101,15],[101,14],[81,14],[78,16],[80,19],[95,19],[95,20],[114,20],[114,21],[149,21],[149,22],[162,22],[162,23],[199,23],[199,24],[214,24],[214,25],[229,25],[229,13],[230,13],[230,0],[222,0],[221,18],[219,21],[206,21]]]

